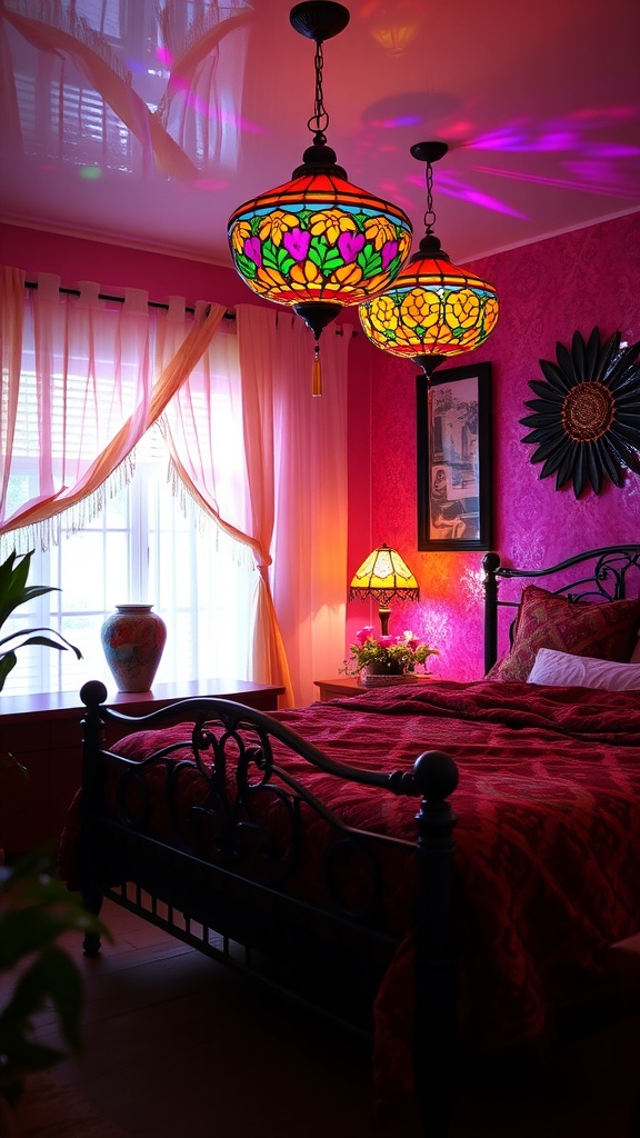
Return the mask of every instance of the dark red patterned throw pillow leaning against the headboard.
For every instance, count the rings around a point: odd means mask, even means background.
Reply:
[[[569,601],[538,585],[527,585],[507,655],[487,671],[487,679],[526,681],[540,648],[572,655],[629,662],[638,637],[640,600]]]

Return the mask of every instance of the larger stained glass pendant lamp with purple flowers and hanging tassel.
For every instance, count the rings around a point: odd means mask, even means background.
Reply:
[[[388,201],[347,181],[327,146],[322,43],[342,32],[343,5],[298,3],[290,23],[315,41],[312,145],[290,182],[238,206],[229,220],[233,264],[253,292],[293,307],[315,338],[314,394],[320,394],[320,335],[347,305],[391,284],[411,251],[411,222]]]

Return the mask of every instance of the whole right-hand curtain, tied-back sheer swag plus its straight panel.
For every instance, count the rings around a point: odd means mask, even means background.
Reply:
[[[296,318],[239,305],[236,331],[237,341],[216,337],[163,426],[188,492],[253,551],[254,678],[304,703],[344,659],[351,327],[325,333],[319,399],[311,333]]]

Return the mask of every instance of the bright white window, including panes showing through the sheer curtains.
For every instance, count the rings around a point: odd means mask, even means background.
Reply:
[[[215,366],[237,369],[235,336],[229,331],[223,340],[225,346],[216,351]],[[57,485],[69,480],[60,467],[65,430],[73,431],[76,438],[82,431],[76,450],[81,453],[81,469],[100,450],[100,420],[104,424],[109,409],[97,398],[93,415],[87,414],[85,370],[79,363],[77,380],[67,379],[64,397],[59,393],[56,399],[52,396],[56,407],[51,415],[51,447]],[[60,385],[60,376],[54,371],[51,391]],[[35,390],[33,347],[27,344],[11,456],[9,513],[39,493]],[[98,385],[91,390],[98,390]],[[113,388],[109,390],[113,393]],[[65,407],[64,419],[58,398]],[[219,395],[215,398],[221,404],[215,415],[216,453],[221,447],[229,451],[227,476],[233,478],[241,455],[241,424],[235,407],[223,406],[224,398]],[[74,465],[72,481],[76,476]],[[82,510],[88,512],[90,506],[81,503]],[[79,523],[82,528],[77,528]],[[104,505],[95,517],[79,518],[76,508],[69,517],[61,516],[60,527],[59,539],[51,542],[47,551],[40,549],[38,538],[18,531],[19,553],[35,546],[28,584],[51,585],[59,592],[35,599],[28,608],[20,607],[1,635],[24,628],[54,628],[81,650],[83,659],[76,660],[68,651],[25,648],[18,652],[5,692],[77,691],[88,679],[102,679],[113,694],[115,682],[102,655],[100,627],[115,605],[125,602],[153,604],[167,626],[157,683],[198,677],[249,678],[257,585],[252,552],[206,516],[181,484],[172,485],[169,452],[157,427],[147,431],[138,445],[134,473],[128,485],[114,492],[107,484]],[[5,539],[6,550],[10,536]]]

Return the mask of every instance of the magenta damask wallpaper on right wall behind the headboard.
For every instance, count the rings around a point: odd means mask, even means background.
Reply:
[[[495,331],[451,365],[491,361],[493,387],[493,549],[518,567],[541,568],[582,550],[640,542],[640,476],[624,486],[589,487],[540,479],[534,447],[518,420],[528,413],[539,360],[571,347],[574,331],[640,340],[640,213],[502,253],[471,267],[501,298]],[[392,602],[389,632],[411,628],[441,650],[432,673],[445,679],[483,674],[482,553],[417,552],[416,378],[411,364],[376,352],[371,379],[372,544],[395,546],[413,569],[420,602]],[[504,594],[507,595],[507,594]],[[350,605],[350,616],[353,604]],[[364,622],[362,620],[362,622]]]

